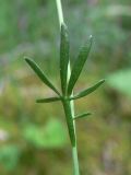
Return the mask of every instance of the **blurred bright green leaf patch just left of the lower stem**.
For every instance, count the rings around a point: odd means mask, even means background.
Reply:
[[[23,137],[37,149],[60,149],[67,144],[64,127],[58,119],[50,119],[45,126],[27,125]]]

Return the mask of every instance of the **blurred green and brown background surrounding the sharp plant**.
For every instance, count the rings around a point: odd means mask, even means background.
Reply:
[[[131,175],[131,1],[62,1],[72,62],[94,36],[76,91],[106,78],[75,103],[82,175]],[[28,68],[34,58],[60,88],[59,23],[52,0],[0,0],[0,174],[71,175],[71,149],[60,103],[38,105],[53,93]]]

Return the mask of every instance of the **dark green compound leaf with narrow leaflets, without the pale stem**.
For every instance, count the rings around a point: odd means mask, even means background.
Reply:
[[[84,67],[84,63],[88,57],[90,50],[92,47],[92,36],[90,37],[90,43],[87,42],[80,50],[79,57],[76,61],[74,62],[74,66],[71,71],[71,75],[69,78],[68,82],[68,67],[69,67],[69,38],[68,38],[68,32],[67,26],[61,25],[61,44],[60,44],[60,78],[61,78],[61,90],[62,95],[60,95],[60,92],[52,85],[50,80],[45,75],[45,73],[40,70],[40,68],[37,66],[37,63],[28,58],[25,58],[26,62],[31,66],[31,68],[35,71],[35,73],[40,78],[40,80],[48,85],[50,89],[52,89],[60,97],[51,97],[51,98],[44,98],[44,100],[37,100],[37,103],[50,103],[56,101],[61,101],[63,104],[69,135],[71,143],[74,145],[75,143],[75,131],[73,127],[73,118],[72,116],[72,109],[70,106],[70,101],[76,100],[83,96],[88,95],[90,93],[94,92],[97,88],[99,88],[105,80],[99,81],[95,85],[88,88],[85,91],[80,92],[78,95],[72,96],[73,88],[80,77],[80,73]],[[63,59],[63,62],[62,62]],[[68,91],[68,94],[67,94]],[[85,115],[84,115],[85,116]]]

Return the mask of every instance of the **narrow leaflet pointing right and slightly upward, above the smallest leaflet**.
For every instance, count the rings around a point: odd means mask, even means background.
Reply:
[[[98,83],[96,83],[95,85],[93,85],[93,86],[91,86],[91,88],[88,88],[88,89],[80,92],[79,94],[70,97],[70,100],[81,98],[81,97],[83,97],[83,96],[86,96],[86,95],[93,93],[93,92],[94,92],[96,89],[98,89],[104,82],[105,82],[105,80],[100,80],[100,81],[99,81]]]

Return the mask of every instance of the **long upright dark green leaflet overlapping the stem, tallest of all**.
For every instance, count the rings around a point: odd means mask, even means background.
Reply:
[[[69,63],[69,36],[64,24],[61,25],[61,43],[60,43],[60,79],[62,93],[67,91],[67,74]]]

